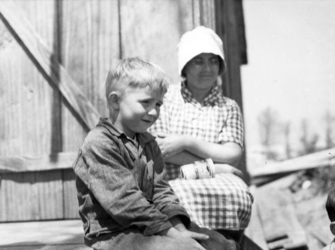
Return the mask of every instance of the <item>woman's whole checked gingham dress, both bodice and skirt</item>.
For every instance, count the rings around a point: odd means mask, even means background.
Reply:
[[[223,97],[216,86],[199,103],[182,82],[171,85],[160,118],[149,132],[186,134],[212,143],[235,142],[243,147],[243,120],[238,104]],[[247,227],[253,197],[235,175],[218,174],[212,179],[183,180],[180,166],[166,164],[169,183],[191,219],[211,229],[239,230]]]

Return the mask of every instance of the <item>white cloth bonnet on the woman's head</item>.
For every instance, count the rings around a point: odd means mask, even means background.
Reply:
[[[191,31],[185,32],[177,45],[178,50],[178,72],[194,56],[201,53],[213,53],[219,55],[224,63],[223,43],[220,37],[210,28],[198,26]]]

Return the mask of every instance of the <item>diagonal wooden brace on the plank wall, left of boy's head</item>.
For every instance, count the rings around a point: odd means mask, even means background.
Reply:
[[[92,129],[99,120],[99,112],[58,63],[24,13],[11,0],[1,0],[0,19],[45,79],[59,90],[77,119],[86,129]]]

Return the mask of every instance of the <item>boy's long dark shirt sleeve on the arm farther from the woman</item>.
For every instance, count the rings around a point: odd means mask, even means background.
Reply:
[[[117,145],[109,140],[92,141],[89,147],[82,148],[79,158],[74,167],[76,175],[122,227],[136,226],[144,235],[172,227],[168,216],[142,195]]]

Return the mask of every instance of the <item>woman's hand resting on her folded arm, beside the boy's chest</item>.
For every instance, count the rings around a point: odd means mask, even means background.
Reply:
[[[184,150],[187,137],[176,134],[157,133],[156,141],[164,159]]]

